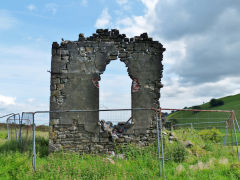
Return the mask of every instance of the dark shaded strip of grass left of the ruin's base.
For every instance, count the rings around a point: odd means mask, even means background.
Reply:
[[[48,156],[48,139],[36,137],[36,153],[40,157]],[[32,153],[32,139],[22,139],[22,141],[10,140],[0,145],[0,153],[20,152]]]

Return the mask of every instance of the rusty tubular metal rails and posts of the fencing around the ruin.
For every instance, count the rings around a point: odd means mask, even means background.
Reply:
[[[22,128],[22,122],[23,122],[23,114],[30,114],[32,116],[32,166],[33,170],[36,171],[36,142],[35,142],[35,115],[36,114],[44,114],[44,113],[76,113],[76,112],[100,112],[100,111],[132,111],[132,110],[153,110],[155,112],[155,120],[156,120],[156,130],[157,130],[157,146],[158,146],[158,168],[159,168],[159,176],[165,178],[165,158],[164,158],[164,144],[163,144],[163,120],[162,120],[162,111],[196,111],[196,112],[225,112],[225,113],[230,113],[231,114],[231,119],[233,123],[233,130],[234,130],[234,135],[235,135],[235,140],[236,140],[236,146],[237,146],[237,155],[238,155],[238,160],[239,160],[239,149],[238,149],[238,141],[237,141],[237,135],[236,135],[236,126],[238,131],[240,132],[239,129],[239,124],[237,121],[237,117],[234,111],[230,110],[198,110],[198,109],[171,109],[171,108],[159,108],[159,109],[154,109],[154,108],[134,108],[134,109],[99,109],[99,110],[62,110],[62,111],[35,111],[35,112],[23,112],[22,116],[19,120],[19,140],[21,140],[21,128]],[[10,113],[7,115],[4,115],[0,118],[8,117],[7,118],[7,126],[8,126],[8,120],[11,117],[14,117],[14,122],[16,122],[15,118],[16,116],[19,116],[19,114],[15,113]],[[31,121],[30,119],[28,119]],[[221,123],[226,123],[226,121],[219,121]],[[203,123],[219,123],[219,122],[203,122]],[[184,125],[190,125],[191,127],[191,135],[192,135],[192,129],[194,124],[202,124],[202,123],[185,123]],[[183,125],[183,124],[182,124]],[[181,124],[178,124],[177,126],[181,126]],[[225,130],[227,131],[228,125],[226,123]],[[226,134],[226,133],[225,133]],[[8,136],[9,137],[9,136]],[[226,135],[225,135],[226,138]],[[224,138],[224,144],[226,143],[226,139]]]

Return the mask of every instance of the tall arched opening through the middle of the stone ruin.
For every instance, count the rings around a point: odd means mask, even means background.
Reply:
[[[99,82],[100,109],[130,109],[131,84],[127,67],[119,59],[111,61]],[[126,122],[131,117],[131,111],[100,112],[99,119],[111,121],[113,124]]]

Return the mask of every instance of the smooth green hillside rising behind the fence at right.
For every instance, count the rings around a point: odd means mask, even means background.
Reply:
[[[210,103],[205,103],[199,106],[188,107],[185,109],[201,109],[201,110],[234,110],[240,124],[240,94],[233,96],[226,96],[219,98],[222,100],[223,105],[211,107]],[[190,111],[177,111],[168,115],[167,120],[173,123],[194,123],[196,128],[203,128],[206,126],[216,126],[216,128],[224,128],[224,123],[216,123],[226,121],[230,113],[222,112],[190,112]],[[210,123],[207,123],[210,122]],[[215,122],[211,123],[211,122]],[[201,124],[205,123],[205,124]]]

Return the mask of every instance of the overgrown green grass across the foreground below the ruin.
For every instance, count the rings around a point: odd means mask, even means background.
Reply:
[[[214,130],[215,131],[215,130]],[[216,130],[217,131],[217,130]],[[220,134],[219,134],[220,133]],[[161,179],[158,175],[156,144],[148,147],[128,145],[119,147],[117,154],[80,155],[58,152],[48,154],[47,132],[37,131],[37,170],[31,165],[31,139],[24,146],[7,141],[6,131],[0,131],[0,179]],[[165,132],[165,174],[167,179],[240,179],[240,163],[236,147],[218,144],[223,134],[219,131],[177,130],[177,141],[169,142]],[[182,142],[191,141],[186,148]]]

